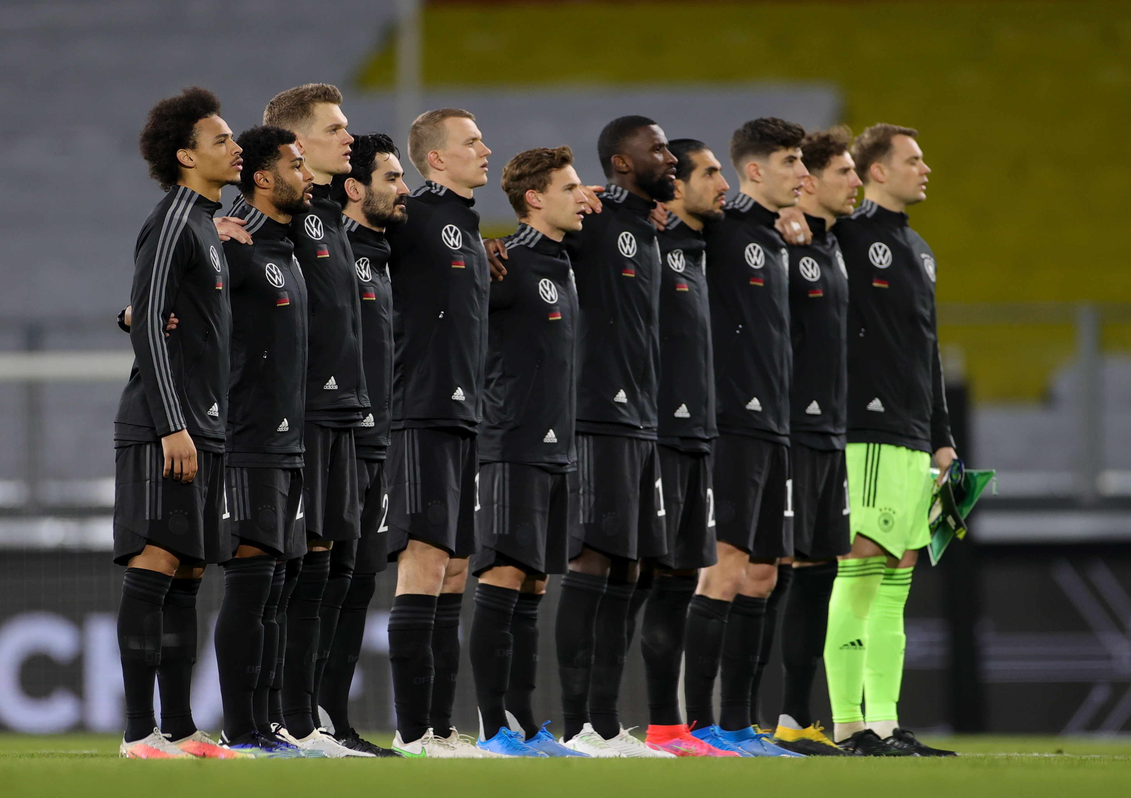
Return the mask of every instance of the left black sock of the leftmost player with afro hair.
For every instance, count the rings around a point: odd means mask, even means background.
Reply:
[[[157,726],[153,714],[153,679],[161,663],[162,605],[172,576],[146,569],[126,569],[118,607],[118,648],[126,686],[126,741],[147,737]]]

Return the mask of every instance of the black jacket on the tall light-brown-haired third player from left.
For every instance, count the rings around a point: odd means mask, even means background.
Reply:
[[[328,184],[313,194],[310,212],[291,218],[288,235],[310,302],[307,420],[351,427],[369,415],[357,277],[342,206]]]

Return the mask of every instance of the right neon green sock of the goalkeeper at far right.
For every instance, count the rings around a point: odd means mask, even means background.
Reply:
[[[867,617],[864,704],[867,722],[898,719],[896,704],[904,682],[904,606],[914,569],[884,569],[883,581]]]

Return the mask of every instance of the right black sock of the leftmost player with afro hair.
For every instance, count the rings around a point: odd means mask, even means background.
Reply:
[[[192,666],[197,661],[199,579],[174,579],[162,608],[161,730],[179,740],[197,730],[192,722]]]

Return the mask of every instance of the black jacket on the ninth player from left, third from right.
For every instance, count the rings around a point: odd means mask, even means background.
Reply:
[[[719,432],[789,443],[789,275],[777,214],[739,194],[705,228]]]

